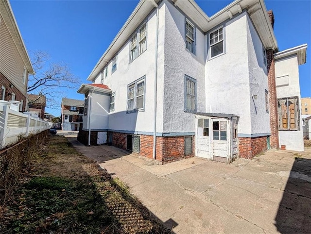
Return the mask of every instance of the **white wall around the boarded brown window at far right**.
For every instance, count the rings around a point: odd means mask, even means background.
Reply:
[[[301,118],[301,97],[299,87],[299,68],[298,59],[296,55],[287,58],[276,60],[276,97],[289,98],[298,96],[299,98],[299,117],[300,117],[300,130],[299,131],[278,131],[279,145],[285,145],[286,150],[304,151],[302,118]],[[286,79],[288,84],[286,84]],[[288,77],[288,78],[287,78]],[[278,81],[281,79],[281,83]]]

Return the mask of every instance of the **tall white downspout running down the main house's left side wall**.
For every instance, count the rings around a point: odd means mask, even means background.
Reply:
[[[153,144],[153,159],[155,160],[156,154],[156,99],[157,99],[157,50],[158,50],[158,34],[159,34],[159,6],[155,0],[151,0],[152,4],[156,7],[156,31],[155,31],[155,94],[154,94],[154,144]]]

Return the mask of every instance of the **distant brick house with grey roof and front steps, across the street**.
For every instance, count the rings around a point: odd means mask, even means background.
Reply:
[[[84,101],[75,99],[62,99],[62,130],[78,131],[83,122]]]

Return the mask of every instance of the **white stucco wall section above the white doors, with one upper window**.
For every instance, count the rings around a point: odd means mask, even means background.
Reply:
[[[224,30],[225,53],[207,57],[205,66],[206,112],[235,114],[238,133],[251,134],[246,12],[224,23]]]

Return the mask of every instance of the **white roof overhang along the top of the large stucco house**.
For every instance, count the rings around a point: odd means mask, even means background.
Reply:
[[[131,16],[126,20],[119,33],[87,77],[88,81],[93,82],[95,80],[96,76],[109,63],[113,56],[115,56],[142,20],[155,8],[155,3],[158,4],[159,1],[160,0],[139,1]],[[278,51],[276,37],[263,0],[235,0],[211,17],[208,17],[194,0],[173,0],[173,4],[188,15],[205,33],[223,23],[225,20],[232,18],[234,15],[242,13],[242,11],[246,9],[259,33],[264,47],[266,49]]]

